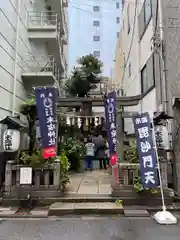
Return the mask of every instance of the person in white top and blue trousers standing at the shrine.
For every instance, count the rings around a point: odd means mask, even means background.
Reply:
[[[92,138],[89,137],[87,143],[85,144],[86,150],[86,170],[90,169],[92,171],[93,159],[95,154],[95,144],[92,142]]]

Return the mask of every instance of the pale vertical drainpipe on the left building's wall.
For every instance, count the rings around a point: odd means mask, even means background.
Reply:
[[[17,24],[16,24],[16,46],[15,46],[15,61],[14,61],[14,78],[13,78],[13,99],[12,99],[12,116],[15,115],[16,107],[16,85],[17,85],[17,58],[19,51],[19,23],[20,23],[21,0],[18,0]]]

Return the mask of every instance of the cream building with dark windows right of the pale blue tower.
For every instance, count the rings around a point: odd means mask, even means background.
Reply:
[[[153,2],[153,4],[152,4]],[[128,107],[127,111],[154,112],[157,109],[154,72],[154,19],[156,1],[125,2],[122,13],[122,26],[116,48],[115,81],[123,88],[124,95],[145,94],[138,106]],[[119,54],[118,54],[119,53]],[[125,120],[125,131],[134,132],[132,120]]]

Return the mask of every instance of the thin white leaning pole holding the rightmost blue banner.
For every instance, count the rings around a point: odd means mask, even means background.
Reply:
[[[153,135],[154,150],[155,150],[156,159],[157,159],[159,183],[160,183],[161,198],[162,198],[162,210],[166,211],[166,206],[165,206],[165,202],[164,202],[164,191],[163,191],[163,185],[162,185],[162,177],[161,177],[161,169],[160,169],[160,163],[159,163],[158,152],[157,152],[156,136],[155,136],[155,129],[154,129],[154,121],[153,121],[153,119],[152,119],[152,135]]]

